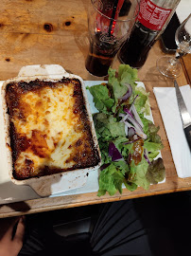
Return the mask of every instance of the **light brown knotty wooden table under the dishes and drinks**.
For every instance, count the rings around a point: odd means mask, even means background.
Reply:
[[[66,71],[77,74],[83,80],[96,80],[84,67],[89,45],[87,3],[88,0],[2,0],[0,80],[17,76],[20,68],[28,64],[61,64]],[[129,192],[125,189],[122,194],[106,194],[100,198],[96,196],[96,192],[90,192],[1,205],[0,217],[191,190],[191,178],[181,179],[176,174],[163,119],[152,92],[154,86],[173,86],[173,82],[165,79],[156,69],[156,60],[162,55],[165,53],[157,42],[149,52],[147,63],[138,73],[140,81],[145,83],[147,91],[150,92],[154,122],[161,127],[159,135],[165,146],[162,150],[166,170],[165,183],[152,185],[148,191],[138,188],[135,192]],[[187,60],[183,63],[184,69],[186,64],[189,65]],[[113,67],[117,68],[118,64],[115,60]],[[189,66],[187,72],[189,75],[182,73],[177,79],[179,85],[188,83],[186,79],[191,76]]]

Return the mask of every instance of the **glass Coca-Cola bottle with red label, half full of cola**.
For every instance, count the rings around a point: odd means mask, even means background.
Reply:
[[[181,0],[141,0],[140,11],[129,39],[118,52],[118,59],[131,67],[142,67],[148,51],[164,32]]]

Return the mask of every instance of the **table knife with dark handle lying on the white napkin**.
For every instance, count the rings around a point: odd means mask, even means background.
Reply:
[[[187,111],[185,102],[183,101],[183,98],[182,98],[182,93],[180,91],[179,85],[176,82],[176,80],[174,81],[174,86],[175,86],[178,106],[179,106],[179,110],[182,118],[183,131],[187,139],[189,148],[191,150],[191,117],[189,112]]]

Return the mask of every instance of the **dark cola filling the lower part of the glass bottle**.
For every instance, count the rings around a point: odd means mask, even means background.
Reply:
[[[118,59],[123,64],[130,64],[131,67],[142,67],[148,58],[150,48],[156,42],[156,36],[156,31],[150,31],[136,23],[129,40],[121,47]]]

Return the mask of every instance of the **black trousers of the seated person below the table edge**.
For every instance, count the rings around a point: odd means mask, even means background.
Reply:
[[[24,255],[191,255],[190,192],[101,205],[93,231],[61,237],[51,219],[28,216]],[[75,209],[74,209],[75,210]]]

